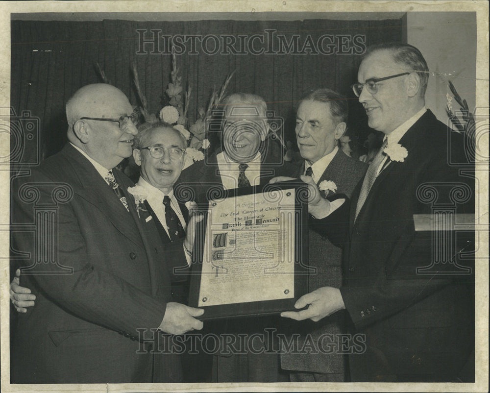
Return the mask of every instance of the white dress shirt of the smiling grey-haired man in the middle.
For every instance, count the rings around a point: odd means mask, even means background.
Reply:
[[[236,163],[228,157],[225,151],[222,151],[216,156],[218,168],[220,169],[221,183],[225,190],[238,188],[238,176],[240,175],[239,163]],[[260,184],[260,159],[261,155],[258,152],[255,157],[246,164],[248,168],[245,170],[245,176],[251,186]]]

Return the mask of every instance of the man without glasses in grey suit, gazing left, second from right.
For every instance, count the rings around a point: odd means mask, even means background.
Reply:
[[[304,163],[294,174],[307,175],[317,184],[333,182],[322,197],[334,193],[351,196],[354,187],[364,176],[367,165],[347,156],[338,141],[346,129],[348,106],[345,98],[330,89],[317,89],[301,99],[296,113],[296,138]],[[321,187],[323,188],[323,187]],[[308,265],[314,269],[309,275],[309,290],[325,285],[342,284],[342,249],[311,228],[308,231]],[[289,324],[292,334],[301,333],[298,347],[305,343],[306,335],[313,338],[313,353],[281,354],[281,367],[290,371],[292,382],[344,382],[345,355],[339,351],[326,353],[318,347],[325,335],[329,343],[337,344],[345,332],[344,314],[337,313],[318,323],[294,322]],[[326,340],[325,340],[326,342]]]

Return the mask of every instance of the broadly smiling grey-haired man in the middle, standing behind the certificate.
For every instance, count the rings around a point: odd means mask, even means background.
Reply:
[[[196,162],[182,171],[174,186],[177,199],[206,202],[223,190],[267,184],[274,176],[291,175],[295,167],[273,159],[268,148],[267,105],[263,98],[245,93],[231,94],[223,100],[221,142],[223,150],[207,162]],[[278,317],[241,318],[210,321],[206,331],[219,334],[265,334]],[[278,344],[278,343],[275,343]],[[213,356],[209,382],[287,382],[277,353],[242,353]]]

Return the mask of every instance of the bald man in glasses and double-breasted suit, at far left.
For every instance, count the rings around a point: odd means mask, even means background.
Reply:
[[[182,245],[170,256],[154,221],[137,211],[127,191],[132,182],[113,169],[131,155],[133,117],[115,87],[82,87],[67,103],[69,143],[16,179],[12,222],[57,224],[58,237],[57,259],[54,254],[50,263],[39,263],[49,237],[13,234],[18,249],[31,255],[22,261],[23,277],[36,306],[19,318],[12,382],[151,382],[153,355],[139,341],[157,329],[182,334],[202,328],[194,318],[202,310],[172,302],[170,294],[172,267],[185,261]],[[55,202],[57,220],[34,214]],[[191,249],[191,237],[186,242]],[[165,382],[181,380],[177,355],[166,356],[165,370]]]

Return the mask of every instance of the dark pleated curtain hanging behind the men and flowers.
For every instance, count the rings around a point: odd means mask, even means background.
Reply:
[[[30,111],[40,119],[42,156],[57,152],[66,142],[64,103],[81,86],[100,82],[98,62],[111,83],[137,104],[130,64],[136,62],[140,84],[150,112],[166,104],[165,89],[170,82],[172,58],[169,54],[136,54],[138,29],[160,29],[161,34],[254,34],[265,29],[290,38],[300,34],[304,42],[311,35],[316,42],[323,34],[361,34],[366,45],[402,40],[402,21],[198,21],[134,22],[27,22],[11,24],[11,106],[20,115]],[[149,49],[148,49],[149,52]],[[196,118],[198,106],[206,106],[213,86],[220,87],[226,75],[236,74],[228,92],[255,93],[268,102],[270,110],[285,119],[286,139],[294,141],[294,108],[309,89],[329,87],[349,98],[351,146],[361,145],[369,132],[366,116],[350,85],[357,79],[360,55],[191,55],[177,56],[182,82],[193,89],[188,116]],[[162,100],[162,98],[164,98]],[[28,151],[25,152],[27,155]],[[25,157],[26,158],[26,157]]]

